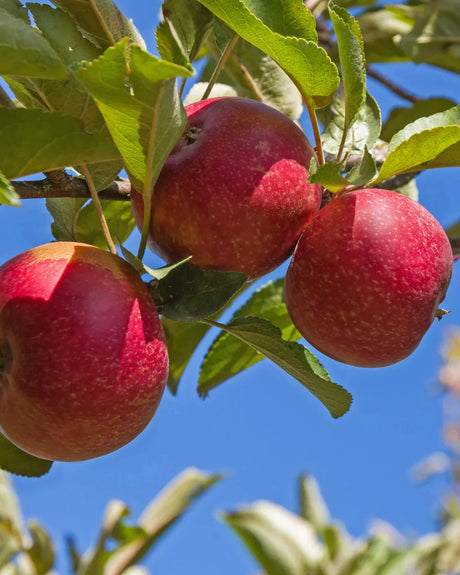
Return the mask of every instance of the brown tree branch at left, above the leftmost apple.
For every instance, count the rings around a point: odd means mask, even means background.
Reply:
[[[23,200],[34,198],[90,198],[85,180],[69,176],[63,170],[48,172],[44,180],[13,181],[11,185]],[[101,200],[129,201],[131,184],[116,180],[99,192]]]

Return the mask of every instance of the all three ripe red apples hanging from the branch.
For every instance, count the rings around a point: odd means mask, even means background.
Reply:
[[[435,218],[383,189],[321,208],[315,152],[275,109],[244,98],[187,106],[155,185],[149,244],[172,263],[250,279],[292,253],[285,301],[322,353],[362,367],[407,357],[439,313],[452,250]],[[143,197],[134,188],[141,228]],[[76,461],[149,423],[168,374],[161,322],[136,271],[93,246],[57,242],[0,267],[0,424],[33,455]]]

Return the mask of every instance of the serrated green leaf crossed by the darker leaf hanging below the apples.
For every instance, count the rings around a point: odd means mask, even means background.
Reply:
[[[269,282],[257,290],[237,310],[233,319],[244,316],[265,318],[281,329],[283,339],[296,341],[302,336],[287,313],[283,298],[284,279]],[[221,332],[212,343],[201,365],[198,393],[207,395],[214,387],[256,364],[265,356],[230,333]]]

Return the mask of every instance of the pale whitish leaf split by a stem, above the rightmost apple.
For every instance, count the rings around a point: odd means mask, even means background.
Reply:
[[[320,120],[325,126],[325,130],[321,135],[324,149],[326,152],[336,155],[340,148],[345,127],[345,101],[343,94],[336,95],[330,107],[321,113]],[[380,108],[368,92],[364,106],[348,130],[344,147],[345,151],[351,154],[362,154],[366,147],[370,150],[378,140],[380,128]]]

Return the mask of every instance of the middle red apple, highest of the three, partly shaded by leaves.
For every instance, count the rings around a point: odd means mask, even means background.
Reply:
[[[320,208],[322,189],[308,183],[313,148],[289,118],[247,98],[186,112],[155,185],[149,245],[169,263],[192,256],[205,269],[262,276],[289,257]],[[142,229],[134,188],[131,199]]]

